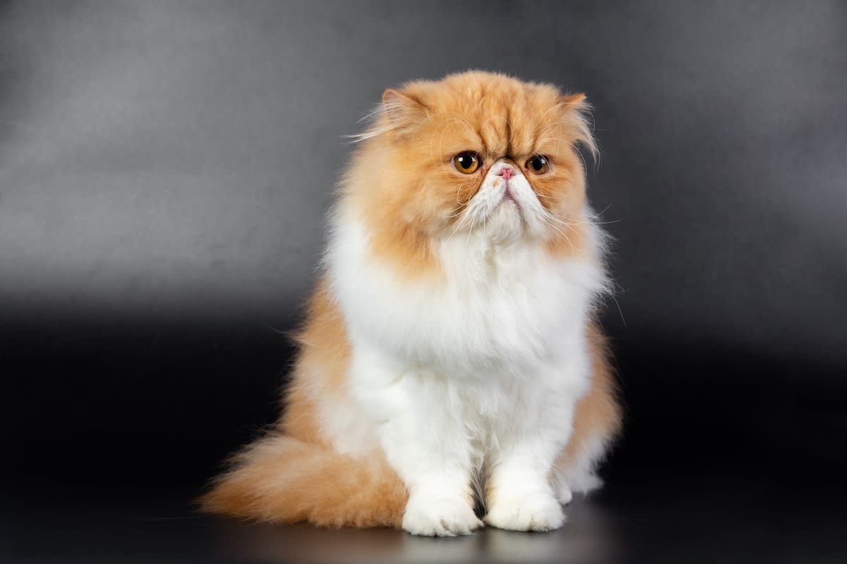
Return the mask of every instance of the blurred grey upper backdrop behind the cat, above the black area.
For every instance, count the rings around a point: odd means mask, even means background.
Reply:
[[[424,4],[424,5],[421,5]],[[637,5],[636,5],[637,4]],[[287,326],[361,118],[584,90],[616,335],[847,360],[847,5],[26,2],[0,12],[0,311]]]

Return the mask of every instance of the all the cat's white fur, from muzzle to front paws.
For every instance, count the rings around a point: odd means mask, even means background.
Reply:
[[[519,172],[514,201],[503,201],[503,166],[490,167],[462,229],[434,243],[440,280],[399,279],[370,252],[352,207],[334,218],[326,266],[357,403],[319,413],[341,452],[385,451],[409,487],[403,527],[414,534],[477,528],[474,479],[489,485],[491,525],[564,520],[549,474],[588,386],[586,315],[605,278],[599,249],[584,260],[544,252],[543,207]]]

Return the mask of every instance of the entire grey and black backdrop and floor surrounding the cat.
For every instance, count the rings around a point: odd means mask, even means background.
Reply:
[[[467,68],[595,104],[606,488],[547,535],[198,518],[279,413],[343,135]],[[0,0],[0,561],[847,560],[845,93],[836,1]]]

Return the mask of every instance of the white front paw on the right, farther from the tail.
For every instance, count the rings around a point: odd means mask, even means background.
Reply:
[[[551,531],[562,527],[565,514],[556,498],[536,494],[495,501],[484,521],[512,531]]]

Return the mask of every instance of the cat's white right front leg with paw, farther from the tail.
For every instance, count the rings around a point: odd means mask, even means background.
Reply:
[[[551,390],[523,390],[522,413],[498,435],[486,485],[484,522],[497,528],[549,531],[565,522],[551,470],[567,443],[574,399]]]

